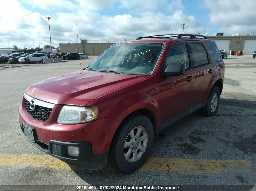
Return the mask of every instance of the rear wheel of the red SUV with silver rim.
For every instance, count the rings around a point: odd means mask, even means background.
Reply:
[[[220,90],[217,86],[213,86],[207,98],[205,106],[200,108],[201,115],[207,116],[207,117],[215,115],[218,112],[219,102],[220,102]]]

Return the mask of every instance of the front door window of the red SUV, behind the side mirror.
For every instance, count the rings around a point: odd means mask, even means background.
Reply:
[[[165,60],[163,71],[165,71],[170,64],[182,64],[185,65],[185,68],[189,68],[188,51],[185,44],[174,45],[171,47]]]

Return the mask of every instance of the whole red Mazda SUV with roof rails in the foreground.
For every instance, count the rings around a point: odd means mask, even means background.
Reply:
[[[112,45],[83,70],[32,84],[19,123],[34,146],[68,164],[101,169],[108,158],[131,173],[162,129],[198,109],[217,113],[224,69],[205,36],[139,37]]]

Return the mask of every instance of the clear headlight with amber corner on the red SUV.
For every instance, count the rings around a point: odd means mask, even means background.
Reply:
[[[58,124],[78,124],[96,120],[98,107],[63,106],[58,119]]]

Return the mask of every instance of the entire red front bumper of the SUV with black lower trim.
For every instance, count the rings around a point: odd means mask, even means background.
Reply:
[[[19,105],[19,123],[35,129],[34,146],[62,161],[85,169],[100,169],[104,167],[108,150],[120,122],[101,118],[89,123],[62,125],[56,119],[62,105],[55,105],[47,121],[35,120],[25,110],[25,98]],[[29,139],[28,139],[29,140]],[[58,145],[62,154],[54,153],[52,145]],[[62,146],[60,146],[62,145]],[[78,158],[67,157],[68,146],[79,147]]]

